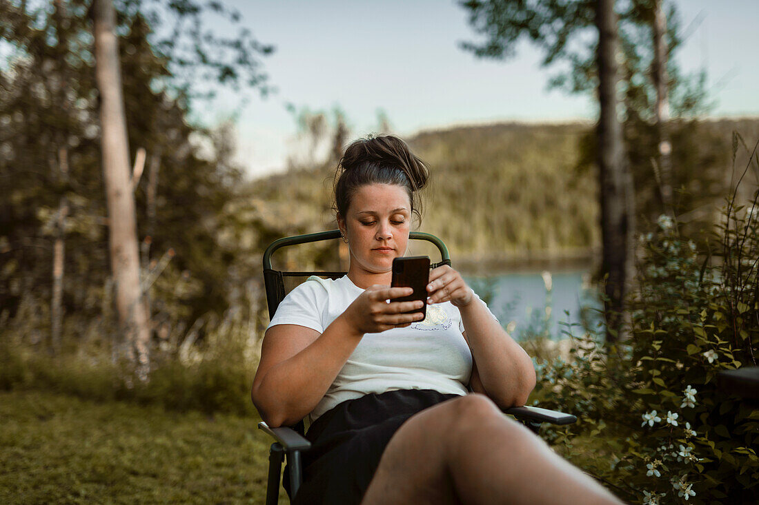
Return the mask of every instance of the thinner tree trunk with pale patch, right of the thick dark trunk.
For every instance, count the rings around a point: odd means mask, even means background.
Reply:
[[[653,86],[657,89],[656,125],[659,151],[660,190],[664,212],[672,205],[672,145],[669,143],[669,77],[666,71],[669,49],[666,44],[666,17],[663,0],[653,2]]]

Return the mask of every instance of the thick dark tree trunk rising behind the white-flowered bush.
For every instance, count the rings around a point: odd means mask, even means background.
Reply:
[[[625,163],[622,127],[617,118],[617,15],[613,0],[598,0],[598,165],[603,239],[602,273],[606,277],[606,341],[625,336],[625,295],[631,274],[635,215],[632,178]]]

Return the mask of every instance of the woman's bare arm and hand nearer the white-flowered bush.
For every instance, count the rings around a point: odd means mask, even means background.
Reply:
[[[502,408],[524,405],[535,387],[532,360],[476,299],[461,274],[449,266],[436,268],[427,291],[433,303],[450,301],[461,312],[474,361],[473,391],[487,394]]]

